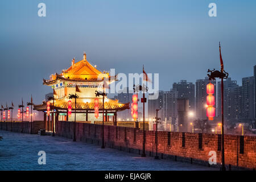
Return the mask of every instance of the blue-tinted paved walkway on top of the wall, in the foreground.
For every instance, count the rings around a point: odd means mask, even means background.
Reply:
[[[217,170],[196,164],[141,158],[72,139],[0,130],[0,170]],[[46,165],[38,152],[46,152]]]

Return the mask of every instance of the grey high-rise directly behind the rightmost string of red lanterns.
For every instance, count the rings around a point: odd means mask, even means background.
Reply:
[[[216,98],[216,81],[209,81],[208,77],[205,77],[204,80],[196,80],[196,118],[207,118],[207,84],[209,84],[209,82],[214,85],[213,96]],[[216,107],[216,103],[214,107]]]

